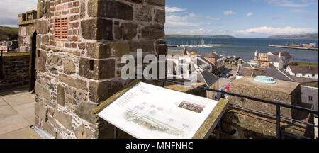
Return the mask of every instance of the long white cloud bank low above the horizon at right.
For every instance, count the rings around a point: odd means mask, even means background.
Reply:
[[[250,34],[267,34],[267,35],[289,35],[289,34],[300,34],[300,33],[318,33],[318,29],[313,28],[292,28],[287,26],[285,28],[273,28],[273,27],[257,27],[249,28],[246,30],[237,30],[235,33],[250,35]]]

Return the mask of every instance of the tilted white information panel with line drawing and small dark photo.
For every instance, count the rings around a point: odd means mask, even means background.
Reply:
[[[138,139],[191,139],[217,103],[140,82],[98,115]]]

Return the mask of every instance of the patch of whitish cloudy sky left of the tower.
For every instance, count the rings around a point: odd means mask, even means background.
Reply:
[[[18,14],[36,10],[38,0],[1,0],[0,25],[17,26]]]

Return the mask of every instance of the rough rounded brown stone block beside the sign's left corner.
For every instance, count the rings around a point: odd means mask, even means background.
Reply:
[[[80,118],[89,121],[90,123],[96,123],[97,116],[92,113],[93,109],[96,108],[96,104],[82,102],[79,107],[74,111]]]

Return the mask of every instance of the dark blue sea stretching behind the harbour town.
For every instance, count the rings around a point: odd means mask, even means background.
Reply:
[[[165,38],[167,44],[172,45],[191,45],[191,42],[201,42],[202,38]],[[304,39],[271,39],[271,38],[203,38],[205,44],[229,44],[230,46],[220,47],[190,47],[189,49],[196,49],[198,54],[208,53],[216,50],[219,55],[230,55],[241,57],[242,60],[251,60],[254,58],[254,51],[267,53],[278,50],[286,50],[295,57],[296,62],[311,62],[318,63],[318,51],[313,50],[295,50],[288,48],[268,47],[268,45],[284,45],[289,44],[308,44],[318,40],[304,40]],[[183,50],[182,47],[169,47],[169,49]]]

